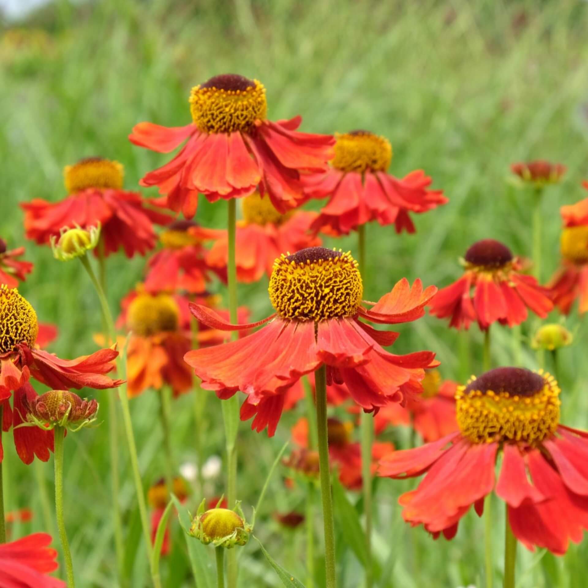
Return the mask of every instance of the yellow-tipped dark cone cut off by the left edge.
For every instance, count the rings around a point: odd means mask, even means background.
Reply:
[[[38,332],[34,308],[16,288],[0,286],[0,353],[12,351],[22,342],[34,346]]]

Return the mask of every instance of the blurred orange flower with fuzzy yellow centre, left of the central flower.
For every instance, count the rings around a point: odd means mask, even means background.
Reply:
[[[121,308],[118,324],[132,332],[126,353],[129,396],[149,388],[159,390],[164,383],[172,387],[174,396],[189,392],[192,370],[183,360],[194,336],[188,300],[177,294],[151,294],[138,286],[121,300]],[[239,315],[246,319],[248,313],[241,308]],[[201,347],[229,339],[228,333],[206,325],[199,327],[197,336]]]

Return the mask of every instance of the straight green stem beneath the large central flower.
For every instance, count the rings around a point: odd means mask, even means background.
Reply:
[[[329,439],[327,430],[326,368],[322,365],[315,372],[316,426],[319,439],[320,495],[323,503],[325,526],[326,588],[335,588],[335,525],[331,497]]]

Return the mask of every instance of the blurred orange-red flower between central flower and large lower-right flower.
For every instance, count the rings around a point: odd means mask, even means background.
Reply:
[[[377,413],[374,417],[376,435],[389,425],[413,426],[423,440],[430,443],[456,431],[456,389],[456,382],[446,380],[442,383],[437,370],[427,371],[419,398],[409,400],[406,408],[388,405]]]

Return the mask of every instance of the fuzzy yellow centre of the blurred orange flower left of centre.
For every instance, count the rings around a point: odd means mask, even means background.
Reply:
[[[147,337],[178,329],[179,308],[168,294],[140,293],[129,304],[127,325],[136,335]]]

